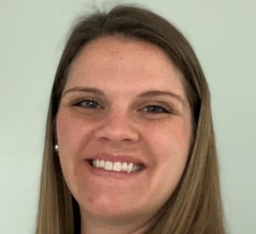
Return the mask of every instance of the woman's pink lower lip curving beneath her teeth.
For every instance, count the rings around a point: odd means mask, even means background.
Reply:
[[[111,179],[117,179],[117,180],[129,180],[131,178],[135,178],[138,175],[142,174],[143,171],[145,170],[145,168],[143,168],[142,170],[139,170],[137,172],[131,172],[131,173],[117,172],[117,171],[110,171],[110,170],[108,171],[102,168],[94,168],[93,166],[90,165],[89,161],[85,161],[85,166],[86,168],[88,168],[91,174],[94,174],[96,176],[101,176],[106,179],[111,178]]]

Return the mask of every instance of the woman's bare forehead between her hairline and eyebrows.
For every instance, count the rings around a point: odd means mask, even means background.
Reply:
[[[131,38],[102,37],[87,44],[73,61],[65,89],[91,86],[126,94],[165,89],[183,95],[182,79],[158,46]]]

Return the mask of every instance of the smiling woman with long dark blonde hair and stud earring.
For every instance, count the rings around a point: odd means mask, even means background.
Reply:
[[[207,81],[181,32],[119,6],[74,27],[49,103],[37,234],[224,233]]]

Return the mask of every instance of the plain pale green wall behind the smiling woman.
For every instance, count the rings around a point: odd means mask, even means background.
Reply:
[[[103,1],[0,0],[0,233],[35,229],[44,128],[55,70],[73,21]],[[230,234],[256,233],[256,1],[139,3],[195,49],[212,93]]]

